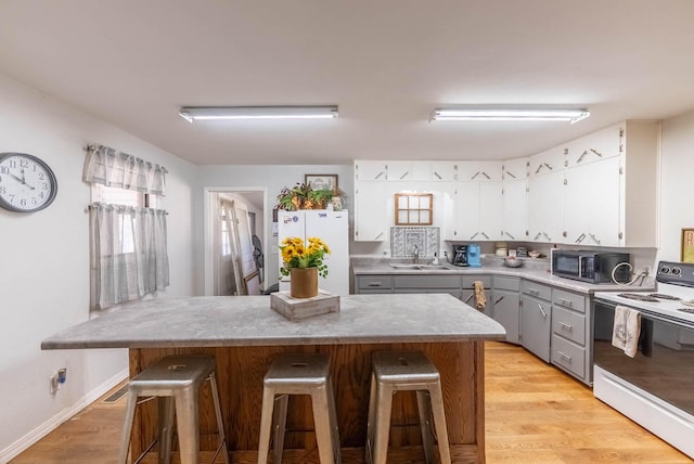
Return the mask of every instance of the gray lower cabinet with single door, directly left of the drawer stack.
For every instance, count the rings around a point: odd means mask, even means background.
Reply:
[[[520,344],[545,362],[550,362],[551,298],[551,286],[523,281]]]

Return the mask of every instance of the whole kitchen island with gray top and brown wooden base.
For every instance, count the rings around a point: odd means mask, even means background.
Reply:
[[[270,309],[269,296],[162,298],[124,305],[69,327],[42,349],[128,348],[130,376],[171,353],[209,353],[217,359],[226,434],[234,463],[257,459],[262,377],[284,351],[331,357],[344,462],[363,462],[371,352],[419,349],[441,375],[446,420],[455,463],[485,461],[484,340],[503,339],[496,321],[450,295],[350,295],[340,312],[288,321]],[[202,401],[211,401],[202,395]],[[201,448],[215,448],[209,404],[201,404]],[[416,401],[394,401],[393,462],[413,462],[421,449]],[[141,408],[132,449],[154,436],[155,413]],[[310,402],[292,398],[286,462],[318,462]]]

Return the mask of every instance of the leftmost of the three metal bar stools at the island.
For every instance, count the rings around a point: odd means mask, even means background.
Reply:
[[[158,462],[160,464],[170,462],[174,411],[176,409],[181,463],[198,464],[198,390],[205,381],[209,381],[211,387],[219,434],[219,446],[213,456],[213,462],[217,454],[222,451],[224,463],[229,464],[227,438],[224,436],[217,378],[215,376],[215,358],[207,355],[168,356],[130,379],[118,463],[126,463],[128,459],[136,407],[144,401],[157,398],[157,438],[133,462],[140,462],[157,441],[159,443]],[[138,402],[140,397],[150,398]]]

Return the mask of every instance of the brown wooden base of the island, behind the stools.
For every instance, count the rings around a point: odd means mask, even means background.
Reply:
[[[422,350],[439,370],[452,462],[485,462],[484,340],[458,343],[292,345],[215,348],[130,348],[130,376],[167,355],[208,353],[216,357],[217,378],[227,442],[234,464],[257,462],[262,378],[280,352],[323,352],[331,357],[343,462],[364,462],[371,353],[377,350]],[[155,402],[150,402],[155,403]],[[155,436],[155,404],[138,408],[131,452],[140,454]],[[209,387],[201,390],[201,449],[211,456],[216,422]],[[388,463],[424,463],[413,392],[398,392],[393,402]],[[154,457],[154,456],[152,456]],[[147,456],[147,460],[150,456]],[[147,461],[143,461],[147,462]],[[222,462],[218,459],[218,462]],[[310,401],[291,397],[285,437],[285,463],[318,463]]]

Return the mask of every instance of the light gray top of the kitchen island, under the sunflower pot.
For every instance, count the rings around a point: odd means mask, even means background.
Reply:
[[[404,314],[407,313],[407,317]],[[349,295],[340,312],[290,321],[269,296],[155,298],[104,311],[42,349],[446,343],[505,338],[496,321],[450,295]]]

